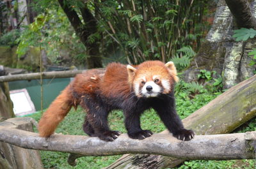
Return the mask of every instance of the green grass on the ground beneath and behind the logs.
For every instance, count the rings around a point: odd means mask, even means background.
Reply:
[[[198,94],[194,99],[184,98],[182,96],[176,97],[177,112],[180,117],[183,119],[189,114],[198,110],[198,108],[209,103],[214,99],[216,95],[214,94]],[[77,109],[75,112],[73,109],[68,113],[65,120],[56,129],[56,133],[63,133],[69,135],[84,135],[82,125],[84,119],[84,111],[81,108]],[[38,121],[41,114],[34,114],[30,117],[33,117]],[[109,114],[109,126],[111,129],[121,131],[126,133],[124,127],[124,115],[121,111],[114,111]],[[150,129],[154,133],[159,133],[166,129],[157,116],[154,110],[148,110],[141,116],[141,127],[143,129]],[[248,123],[247,126],[241,128],[239,131],[252,131],[255,130],[256,119],[253,119],[252,122]],[[47,152],[40,151],[42,156],[42,161],[45,168],[103,168],[114,161],[120,158],[120,156],[104,156],[104,157],[83,157],[77,159],[77,166],[72,167],[67,163],[67,153],[63,152]],[[183,168],[253,168],[255,163],[253,160],[230,160],[230,161],[204,161],[204,160],[194,160],[186,161],[183,165],[177,167],[180,169]]]

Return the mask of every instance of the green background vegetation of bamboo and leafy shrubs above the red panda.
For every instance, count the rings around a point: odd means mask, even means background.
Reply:
[[[184,47],[198,50],[209,30],[214,2],[36,1],[30,4],[38,14],[35,22],[12,31],[13,35],[19,32],[20,37],[4,34],[0,45],[18,45],[19,57],[29,47],[42,47],[54,64],[60,64],[65,52],[72,60],[85,63],[92,55],[90,50],[99,50],[97,57],[105,64],[110,61],[138,64],[149,59],[166,62],[173,58],[188,65],[191,55],[183,55],[179,50]],[[70,21],[65,9],[77,15],[77,22]],[[91,15],[92,20],[86,20]]]

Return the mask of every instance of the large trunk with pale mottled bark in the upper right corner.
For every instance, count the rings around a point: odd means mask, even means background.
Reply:
[[[232,5],[234,6],[234,4]],[[236,11],[238,13],[243,13],[244,9],[249,9],[246,4],[237,8],[241,9]],[[254,17],[256,16],[255,1],[250,4],[250,8],[251,11],[248,11],[244,15],[250,16],[251,13],[251,17],[241,20],[243,22],[247,20],[248,24],[244,23],[244,25],[254,27]],[[236,15],[236,17],[239,17],[239,15]],[[238,22],[239,24],[237,23],[237,25],[241,26],[241,21]],[[234,19],[227,4],[224,0],[220,0],[211,30],[207,34],[198,54],[191,62],[191,66],[184,73],[184,79],[187,82],[198,80],[197,74],[200,70],[216,71],[217,74],[222,75],[223,87],[225,89],[253,76],[253,70],[256,69],[256,66],[249,65],[253,57],[252,55],[248,55],[248,53],[253,48],[256,48],[256,41],[254,39],[235,41],[232,35],[234,34],[234,29],[237,29],[237,27],[234,25]]]

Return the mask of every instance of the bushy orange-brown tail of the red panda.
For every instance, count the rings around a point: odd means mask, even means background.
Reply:
[[[68,114],[72,105],[74,105],[74,97],[70,88],[71,86],[68,85],[42,115],[38,124],[40,136],[47,137],[52,135],[58,124]]]

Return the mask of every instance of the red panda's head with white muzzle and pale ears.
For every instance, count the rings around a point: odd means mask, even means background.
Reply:
[[[136,96],[151,98],[171,92],[172,84],[179,78],[173,62],[147,61],[136,68],[127,66],[129,83]]]

